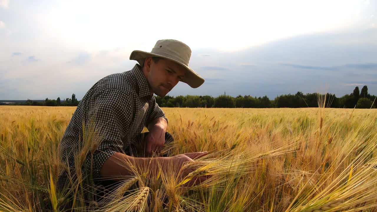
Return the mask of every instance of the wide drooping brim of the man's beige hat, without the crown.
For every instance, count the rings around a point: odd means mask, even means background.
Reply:
[[[183,66],[186,69],[185,77],[183,78],[182,82],[188,84],[191,88],[198,88],[204,83],[204,78],[202,78],[198,73],[196,73],[193,69],[185,64],[179,62],[178,60],[174,60],[170,57],[166,57],[159,54],[154,54],[150,52],[143,52],[139,50],[135,50],[130,54],[130,60],[136,60],[138,63],[143,66],[145,58],[147,57],[162,57],[167,60],[171,60],[173,62],[178,63],[179,65]]]

